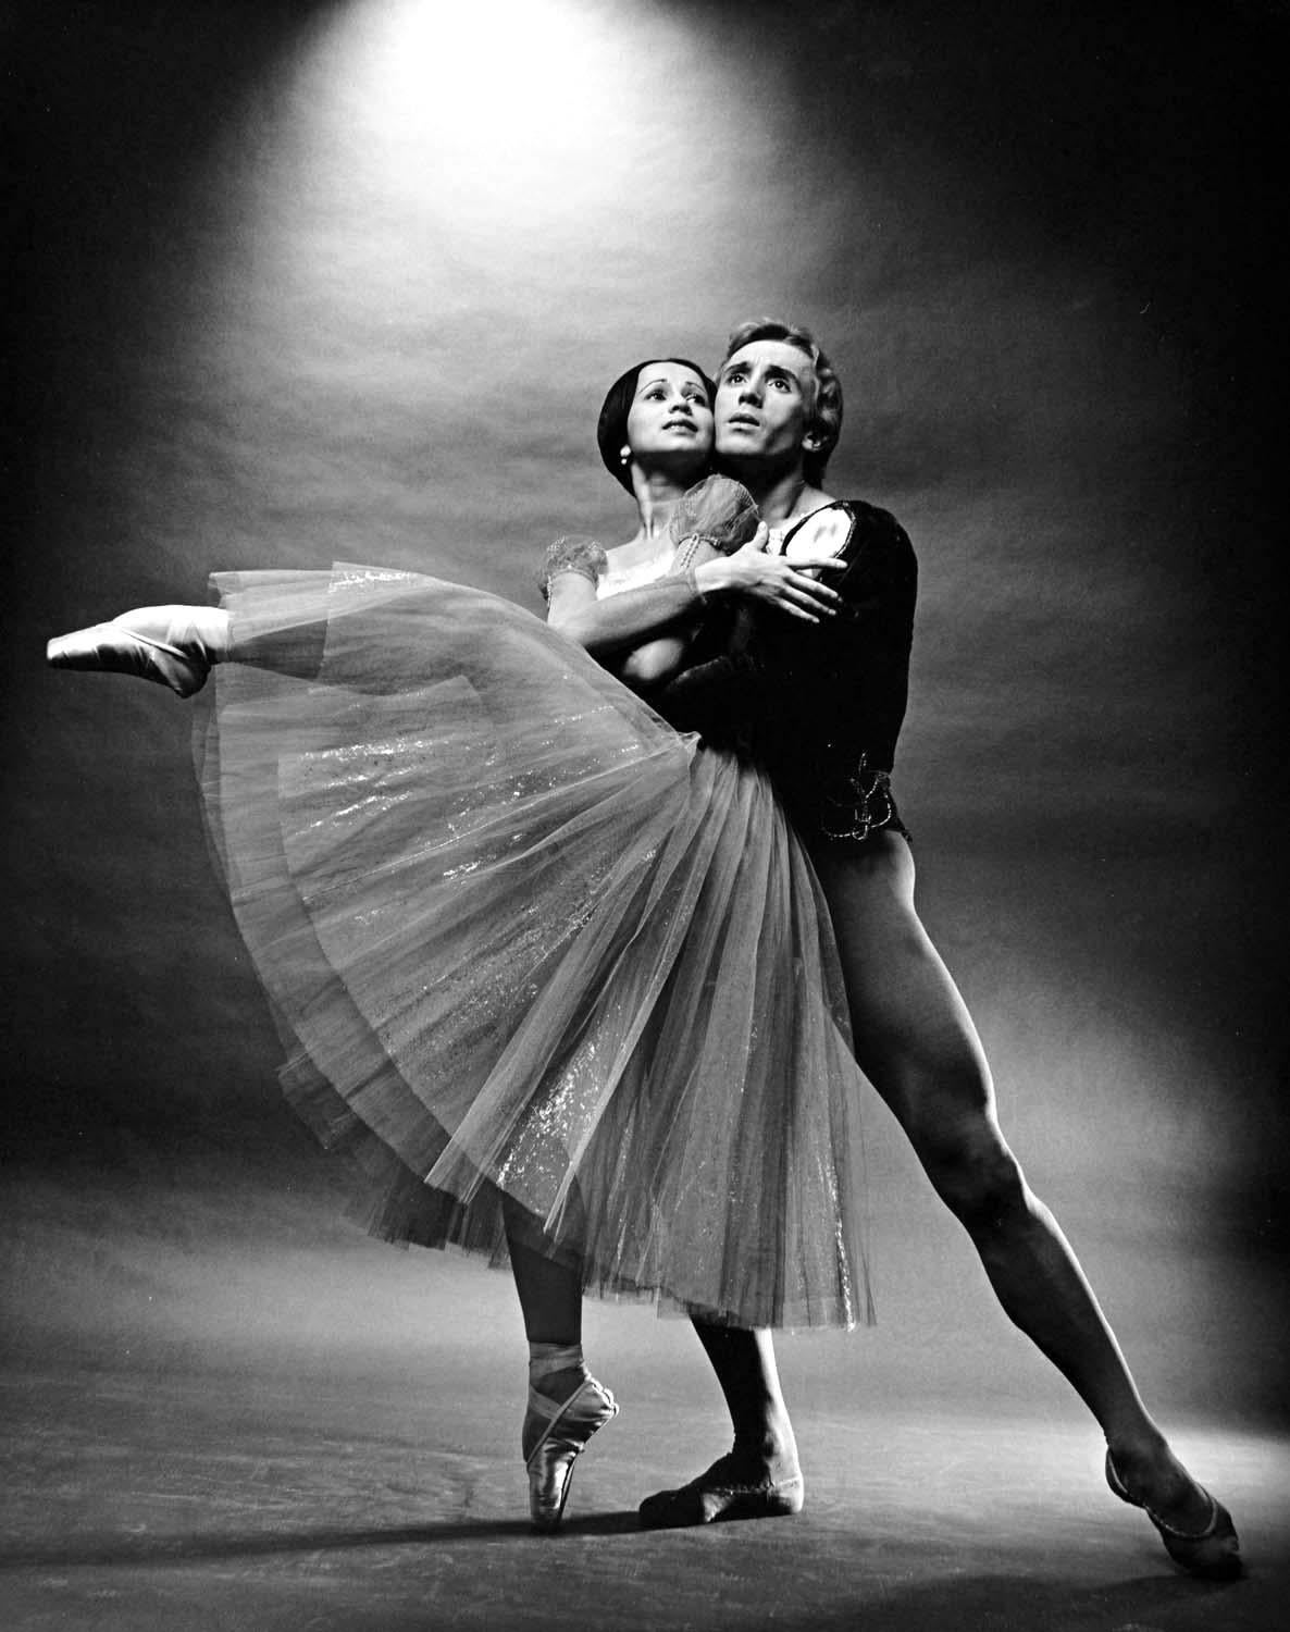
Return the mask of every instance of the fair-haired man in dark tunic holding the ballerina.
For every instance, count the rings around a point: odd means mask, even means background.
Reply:
[[[718,375],[718,460],[752,491],[771,547],[833,503],[822,483],[840,426],[842,387],[807,330],[755,322],[734,331]],[[1000,1133],[972,1018],[918,920],[887,780],[905,710],[913,552],[886,511],[848,501],[845,516],[850,565],[830,578],[846,602],[840,617],[763,622],[745,653],[682,674],[656,702],[674,723],[739,741],[766,765],[828,899],[864,1074],[967,1229],[1005,1312],[1098,1418],[1111,1488],[1146,1510],[1174,1562],[1233,1573],[1231,1519],[1171,1452],[1070,1245],[1027,1186]],[[734,1449],[680,1490],[646,1498],[643,1523],[796,1513],[801,1470],[770,1333],[695,1328]]]

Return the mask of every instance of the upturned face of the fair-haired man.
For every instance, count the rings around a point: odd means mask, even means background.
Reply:
[[[812,432],[815,369],[781,339],[753,339],[721,366],[716,382],[716,452],[736,473],[791,470]]]

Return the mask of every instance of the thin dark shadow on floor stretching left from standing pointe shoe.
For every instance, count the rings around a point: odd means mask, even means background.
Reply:
[[[595,1513],[569,1519],[561,1536],[639,1536],[636,1513]],[[445,1519],[354,1529],[233,1531],[207,1536],[78,1536],[65,1542],[0,1552],[0,1572],[111,1568],[140,1563],[204,1563],[219,1559],[269,1559],[295,1552],[346,1552],[360,1547],[434,1547],[463,1541],[543,1541],[527,1519]]]

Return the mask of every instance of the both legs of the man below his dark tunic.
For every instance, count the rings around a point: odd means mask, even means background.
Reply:
[[[863,850],[822,849],[814,862],[838,938],[856,1058],[972,1239],[1005,1312],[1098,1418],[1137,1505],[1182,1537],[1223,1523],[1230,1531],[1146,1412],[1075,1253],[1003,1139],[980,1038],[913,907],[908,845],[897,834],[874,834]],[[726,1332],[716,1343],[721,1328],[695,1325],[726,1394],[736,1448],[773,1448],[786,1417],[781,1399],[768,1404],[778,1394],[770,1333],[739,1343]],[[660,1500],[643,1506],[646,1523]],[[1218,1544],[1205,1557],[1218,1568],[1235,1563],[1235,1534],[1230,1557]]]

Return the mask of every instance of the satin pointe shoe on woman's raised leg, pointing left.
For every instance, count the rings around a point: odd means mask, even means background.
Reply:
[[[228,614],[219,607],[137,607],[59,635],[46,646],[46,661],[52,669],[137,674],[191,697],[227,650]]]

